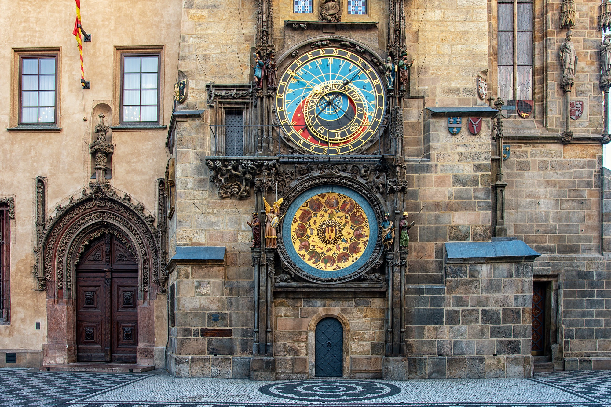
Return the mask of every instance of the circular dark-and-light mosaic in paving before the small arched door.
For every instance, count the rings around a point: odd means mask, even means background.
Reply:
[[[263,394],[302,402],[357,402],[390,397],[401,392],[393,384],[359,380],[298,380],[266,384]]]

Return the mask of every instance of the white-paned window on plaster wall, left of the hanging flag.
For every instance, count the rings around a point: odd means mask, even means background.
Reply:
[[[57,106],[55,56],[20,59],[20,123],[55,123]]]

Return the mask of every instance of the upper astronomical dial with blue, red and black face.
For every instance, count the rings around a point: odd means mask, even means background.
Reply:
[[[382,131],[384,87],[359,55],[320,48],[293,61],[282,74],[276,112],[285,135],[303,149],[343,154]]]

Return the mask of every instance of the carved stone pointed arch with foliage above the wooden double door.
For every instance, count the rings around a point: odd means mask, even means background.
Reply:
[[[35,249],[33,273],[38,290],[45,290],[49,281],[55,281],[58,290],[70,290],[72,270],[85,246],[104,233],[117,236],[134,255],[145,290],[151,282],[163,285],[166,281],[165,251],[156,238],[155,217],[145,214],[144,205],[134,204],[128,194],[119,197],[108,184],[93,183],[80,197],[70,197],[67,206],[57,205],[56,212],[49,216]]]

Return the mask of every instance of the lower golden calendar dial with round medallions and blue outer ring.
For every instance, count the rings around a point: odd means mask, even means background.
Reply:
[[[320,186],[301,194],[288,207],[282,236],[300,271],[340,278],[357,271],[371,257],[378,223],[360,194],[341,186]]]

